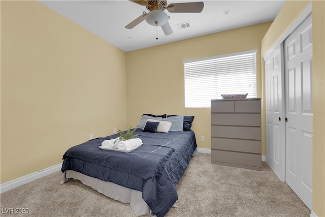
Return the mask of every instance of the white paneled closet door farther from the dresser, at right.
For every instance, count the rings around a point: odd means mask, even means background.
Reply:
[[[311,14],[284,41],[285,181],[312,209]]]

